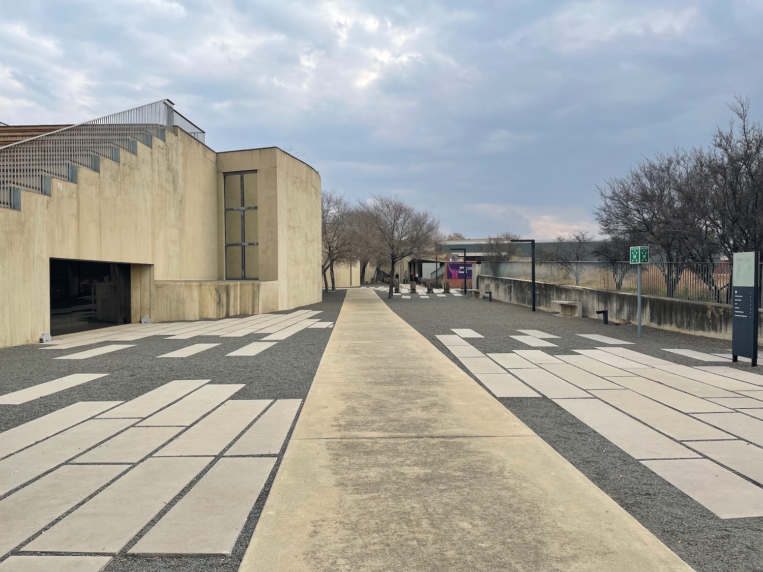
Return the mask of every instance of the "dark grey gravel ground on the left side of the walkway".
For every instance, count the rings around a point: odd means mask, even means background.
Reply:
[[[301,309],[322,310],[322,313],[314,318],[324,322],[336,321],[344,294],[345,291],[324,293],[323,302]],[[278,313],[291,311],[293,310]],[[152,336],[135,342],[102,342],[98,345],[106,345],[106,343],[135,345],[111,354],[71,361],[53,358],[95,346],[45,351],[40,351],[39,345],[20,345],[0,349],[0,364],[2,364],[0,394],[31,387],[72,373],[109,373],[105,378],[89,381],[22,405],[0,405],[0,431],[26,423],[78,401],[130,400],[175,379],[211,379],[210,384],[246,384],[246,387],[233,394],[232,399],[304,400],[332,332],[333,329],[328,328],[304,329],[294,336],[279,341],[265,352],[256,355],[255,358],[227,357],[226,354],[266,334],[250,334],[241,338],[198,336],[192,339],[163,339],[162,336]],[[194,343],[220,343],[221,345],[188,358],[156,359],[157,355]],[[281,463],[282,454],[283,450],[275,463],[276,471]],[[214,463],[208,467],[212,464]],[[204,476],[205,471],[185,487],[184,494]],[[127,545],[123,554],[115,557],[114,561],[105,568],[106,572],[138,572],[139,570],[140,572],[155,570],[233,572],[238,570],[274,476],[275,471],[272,472],[250,512],[230,557],[144,558],[124,554],[137,542],[134,540]],[[178,499],[179,497],[176,497],[175,500]],[[172,508],[172,505],[173,503],[170,503],[150,525],[146,525],[140,534],[147,532],[151,525]]]

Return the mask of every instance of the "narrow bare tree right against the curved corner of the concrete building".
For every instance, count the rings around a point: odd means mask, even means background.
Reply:
[[[335,189],[324,191],[321,197],[321,234],[323,262],[320,270],[324,277],[324,287],[329,290],[326,272],[331,274],[331,289],[336,290],[334,264],[350,262],[354,259],[353,247],[355,225],[353,225],[353,207],[344,195]]]

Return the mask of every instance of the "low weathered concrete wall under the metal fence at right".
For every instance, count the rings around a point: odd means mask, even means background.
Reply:
[[[530,306],[532,282],[517,278],[498,278],[480,275],[479,287],[493,292],[493,297],[501,302]],[[596,310],[609,310],[610,320],[636,323],[638,308],[636,294],[594,290],[565,284],[536,282],[536,307],[541,310],[559,311],[558,304],[551,300],[570,300],[582,302],[583,317],[601,319]],[[708,336],[711,338],[731,339],[731,306],[642,296],[642,324],[655,328],[669,329]],[[758,318],[758,329],[763,328]]]

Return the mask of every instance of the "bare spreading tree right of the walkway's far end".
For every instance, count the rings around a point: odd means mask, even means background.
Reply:
[[[380,258],[390,262],[388,298],[394,292],[394,266],[408,256],[421,255],[435,242],[439,220],[427,210],[416,210],[398,196],[372,195],[359,202],[362,229],[369,235],[369,245]]]

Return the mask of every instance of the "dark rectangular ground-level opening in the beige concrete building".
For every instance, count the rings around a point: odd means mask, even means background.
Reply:
[[[130,265],[50,259],[50,335],[130,322]]]

